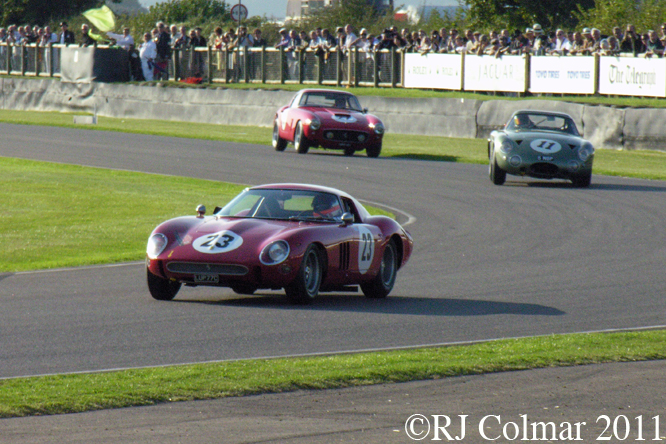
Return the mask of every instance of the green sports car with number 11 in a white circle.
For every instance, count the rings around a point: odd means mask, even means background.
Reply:
[[[571,116],[549,111],[516,111],[488,139],[490,180],[502,185],[507,174],[568,179],[576,187],[592,180],[594,147],[578,133]]]

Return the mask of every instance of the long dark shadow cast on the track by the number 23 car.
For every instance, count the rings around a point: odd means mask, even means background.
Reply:
[[[233,297],[217,301],[176,299],[173,302],[208,304],[219,307],[253,307],[258,309],[337,312],[348,311],[354,313],[402,314],[412,316],[487,316],[497,314],[562,316],[566,314],[557,308],[538,304],[419,297],[367,299],[358,295],[320,295],[315,299],[312,305],[291,305],[284,296],[275,294]]]

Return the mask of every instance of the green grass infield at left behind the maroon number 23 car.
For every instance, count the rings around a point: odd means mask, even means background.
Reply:
[[[0,272],[141,260],[159,223],[222,206],[243,188],[0,157]]]

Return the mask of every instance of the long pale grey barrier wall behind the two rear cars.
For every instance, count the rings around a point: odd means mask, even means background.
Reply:
[[[294,93],[280,90],[175,88],[113,83],[74,84],[57,79],[0,79],[0,108],[97,112],[100,116],[227,125],[272,126],[275,111]],[[570,114],[596,148],[666,150],[659,122],[666,109],[620,109],[550,100],[468,100],[366,97],[361,105],[387,132],[487,138],[517,109]]]

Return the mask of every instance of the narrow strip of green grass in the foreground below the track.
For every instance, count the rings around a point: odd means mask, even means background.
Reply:
[[[233,361],[0,381],[0,417],[666,357],[666,331],[554,335],[466,346]]]

